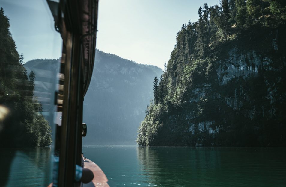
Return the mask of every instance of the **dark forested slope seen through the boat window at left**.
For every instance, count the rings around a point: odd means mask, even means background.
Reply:
[[[2,8],[0,25],[0,147],[49,146],[51,130],[33,97],[35,74],[23,66]]]

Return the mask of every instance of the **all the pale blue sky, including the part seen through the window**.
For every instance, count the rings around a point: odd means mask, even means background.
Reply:
[[[100,0],[96,46],[137,63],[163,68],[184,23],[198,20],[198,8],[218,0]],[[61,56],[61,38],[44,0],[0,0],[24,62]]]

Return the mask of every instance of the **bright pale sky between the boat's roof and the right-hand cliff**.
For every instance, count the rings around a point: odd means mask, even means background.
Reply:
[[[97,48],[163,69],[184,23],[198,20],[198,9],[218,0],[99,1]]]

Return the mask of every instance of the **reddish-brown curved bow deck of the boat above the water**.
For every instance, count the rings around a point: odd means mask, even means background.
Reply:
[[[89,159],[85,159],[84,168],[90,169],[93,172],[94,178],[90,183],[83,184],[83,187],[109,187],[107,184],[108,179],[98,165]]]

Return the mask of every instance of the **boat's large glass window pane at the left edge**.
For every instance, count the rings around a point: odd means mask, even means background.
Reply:
[[[61,36],[46,1],[0,8],[0,186],[48,186]]]

